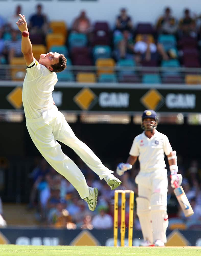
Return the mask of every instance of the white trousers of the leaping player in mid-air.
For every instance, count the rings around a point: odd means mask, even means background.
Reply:
[[[26,126],[33,143],[46,161],[63,175],[78,191],[80,197],[89,196],[86,179],[77,165],[66,156],[57,141],[72,148],[75,153],[96,173],[100,179],[113,173],[105,167],[92,150],[81,142],[65,120],[64,115],[54,105],[37,119],[27,119]]]

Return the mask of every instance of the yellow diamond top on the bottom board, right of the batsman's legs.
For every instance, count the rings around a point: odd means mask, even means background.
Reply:
[[[188,246],[188,240],[178,231],[172,231],[167,237],[165,246]]]

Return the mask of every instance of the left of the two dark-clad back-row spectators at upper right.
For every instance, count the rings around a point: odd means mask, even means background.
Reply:
[[[176,19],[171,15],[171,9],[169,7],[165,8],[164,15],[158,19],[156,28],[159,34],[176,34],[178,24]]]

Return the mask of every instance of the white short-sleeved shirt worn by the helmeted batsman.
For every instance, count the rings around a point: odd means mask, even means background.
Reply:
[[[169,155],[170,152],[172,147],[168,137],[155,130],[155,134],[150,139],[145,132],[136,136],[129,154],[139,156],[141,171],[153,172],[165,168],[164,153]]]

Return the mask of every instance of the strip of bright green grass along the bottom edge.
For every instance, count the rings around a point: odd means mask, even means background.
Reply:
[[[1,256],[103,256],[103,255],[201,255],[200,247],[105,247],[105,246],[18,246],[0,245]]]

